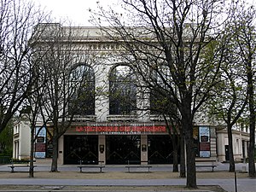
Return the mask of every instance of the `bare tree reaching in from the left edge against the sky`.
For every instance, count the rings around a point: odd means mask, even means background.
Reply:
[[[46,16],[33,3],[23,0],[3,0],[0,6],[0,132],[2,132],[32,90],[34,77],[32,77],[32,47],[29,40],[35,35],[33,26],[43,22]]]

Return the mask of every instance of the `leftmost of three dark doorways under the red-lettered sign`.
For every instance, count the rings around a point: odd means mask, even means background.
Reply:
[[[97,136],[64,136],[64,164],[98,164]]]

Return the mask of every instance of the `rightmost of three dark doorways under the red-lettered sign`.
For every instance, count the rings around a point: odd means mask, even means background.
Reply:
[[[148,160],[150,164],[173,163],[173,147],[170,136],[148,136]]]

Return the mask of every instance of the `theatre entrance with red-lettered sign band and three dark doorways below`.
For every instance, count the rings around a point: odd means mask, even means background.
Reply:
[[[71,128],[60,141],[64,164],[98,161],[127,164],[149,160],[172,162],[172,142],[165,125],[146,123],[85,123]]]

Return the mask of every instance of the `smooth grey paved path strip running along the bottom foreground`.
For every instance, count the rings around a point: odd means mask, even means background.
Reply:
[[[0,179],[0,185],[39,185],[39,186],[185,186],[185,179],[32,179],[15,178]],[[219,185],[225,191],[235,191],[233,179],[198,179],[199,186]],[[183,189],[183,188],[181,188]],[[256,185],[253,179],[239,179],[237,181],[237,191],[255,192]],[[1,188],[0,188],[1,190]],[[184,190],[184,189],[183,189]],[[197,191],[197,190],[195,190]]]

